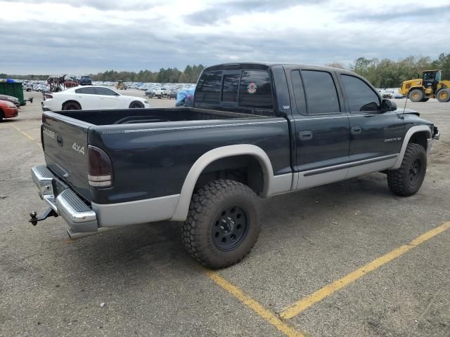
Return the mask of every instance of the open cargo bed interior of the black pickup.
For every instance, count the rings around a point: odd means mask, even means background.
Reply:
[[[273,117],[274,112],[254,110],[252,113],[229,112],[220,110],[196,109],[193,107],[174,107],[161,109],[127,109],[127,110],[72,110],[62,111],[67,117],[85,121],[94,125],[158,123],[167,121],[202,121],[210,119],[238,119]]]

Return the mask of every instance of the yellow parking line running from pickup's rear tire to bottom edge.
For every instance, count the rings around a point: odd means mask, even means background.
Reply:
[[[217,285],[221,286],[222,289],[225,289],[231,295],[238,298],[240,302],[247,305],[248,308],[252,309],[254,312],[256,312],[264,321],[268,322],[269,324],[273,325],[284,333],[288,337],[304,337],[304,335],[298,331],[295,331],[290,326],[285,324],[279,317],[277,317],[274,313],[270,312],[266,308],[264,308],[261,304],[259,304],[256,300],[253,298],[245,295],[242,290],[240,290],[237,286],[234,286],[230,282],[226,281],[223,277],[221,277],[217,272],[212,272],[211,270],[207,270],[206,274],[212,281],[214,281]]]

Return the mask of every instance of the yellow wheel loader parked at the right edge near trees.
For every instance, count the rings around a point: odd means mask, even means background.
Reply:
[[[442,80],[442,70],[424,70],[421,79],[404,81],[399,93],[408,96],[413,102],[426,102],[430,98],[449,102],[450,81]]]

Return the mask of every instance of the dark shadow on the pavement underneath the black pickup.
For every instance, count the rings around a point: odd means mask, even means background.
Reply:
[[[270,234],[275,241],[283,240],[286,232],[292,231],[292,219],[295,220],[295,227],[302,227],[305,234],[321,230],[332,219],[323,224],[306,226],[310,221],[309,214],[336,206],[341,212],[353,211],[352,207],[355,205],[370,205],[377,197],[396,198],[387,189],[385,175],[380,173],[263,200],[260,241],[264,241],[265,234]],[[287,220],[288,218],[291,220]],[[269,225],[272,221],[276,221],[277,225]],[[72,258],[79,259],[87,268],[92,267],[93,272],[98,272],[100,265],[111,265],[115,269],[127,269],[129,265],[192,269],[198,265],[181,242],[181,223],[169,221],[118,229],[70,242],[70,246],[74,248]],[[264,250],[264,246],[259,249]]]

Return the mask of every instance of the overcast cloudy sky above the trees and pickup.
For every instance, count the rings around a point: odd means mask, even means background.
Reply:
[[[0,0],[0,73],[236,60],[344,65],[450,52],[450,1]]]

